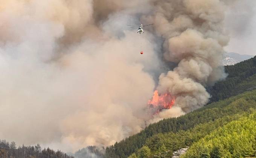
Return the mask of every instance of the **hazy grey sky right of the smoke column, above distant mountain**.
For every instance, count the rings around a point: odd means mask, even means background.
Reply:
[[[256,55],[256,2],[237,1],[226,12],[226,29],[230,36],[227,52]]]

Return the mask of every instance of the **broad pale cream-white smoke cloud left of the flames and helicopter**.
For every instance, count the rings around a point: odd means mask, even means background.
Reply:
[[[136,30],[109,27],[111,19],[94,24],[91,0],[0,3],[1,138],[75,151],[145,127],[153,36],[134,40]]]

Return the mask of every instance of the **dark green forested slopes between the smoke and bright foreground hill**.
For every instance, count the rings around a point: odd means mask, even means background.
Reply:
[[[173,151],[191,146],[212,131],[254,112],[256,91],[251,90],[256,89],[256,57],[225,69],[227,79],[208,88],[211,104],[149,125],[140,133],[108,147],[105,157],[170,157]]]

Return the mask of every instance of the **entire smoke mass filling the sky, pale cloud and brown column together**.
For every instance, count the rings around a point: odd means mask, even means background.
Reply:
[[[224,47],[237,46],[228,45],[228,33],[241,41],[254,17],[243,19],[253,10],[229,0],[0,4],[0,138],[63,151],[111,145],[204,106],[204,87],[226,77]],[[141,35],[126,26],[140,23],[154,25]],[[145,109],[155,89],[177,99],[152,118]]]

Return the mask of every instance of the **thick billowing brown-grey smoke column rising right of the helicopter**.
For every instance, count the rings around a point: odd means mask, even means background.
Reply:
[[[160,75],[157,90],[175,95],[172,109],[159,118],[179,116],[204,106],[210,95],[204,88],[226,77],[221,59],[229,38],[223,31],[225,4],[219,0],[160,0],[145,20],[156,24],[164,40],[164,57],[178,66]]]

